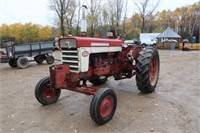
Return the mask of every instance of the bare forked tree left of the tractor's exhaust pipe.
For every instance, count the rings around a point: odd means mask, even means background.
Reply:
[[[69,9],[71,0],[49,0],[50,9],[55,11],[60,23],[61,35],[65,36],[65,15]]]

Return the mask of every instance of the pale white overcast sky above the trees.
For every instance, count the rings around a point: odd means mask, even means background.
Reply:
[[[191,5],[199,0],[161,0],[157,11],[175,10],[178,7]],[[137,12],[132,0],[128,3],[127,17]],[[54,13],[49,9],[48,0],[0,0],[0,25],[3,23],[34,23],[54,25]]]

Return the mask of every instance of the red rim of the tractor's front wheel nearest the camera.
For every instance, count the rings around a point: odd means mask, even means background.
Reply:
[[[107,117],[110,115],[114,108],[114,99],[112,96],[106,96],[100,105],[100,114],[102,117]]]

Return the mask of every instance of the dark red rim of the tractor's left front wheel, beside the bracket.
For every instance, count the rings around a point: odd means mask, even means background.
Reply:
[[[43,88],[42,96],[49,101],[55,97],[56,93],[57,91],[55,89],[51,89],[50,84],[48,83]]]

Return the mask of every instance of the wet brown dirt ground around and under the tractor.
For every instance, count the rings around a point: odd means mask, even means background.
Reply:
[[[59,59],[59,52],[55,52]],[[42,106],[36,83],[49,74],[48,65],[31,62],[27,69],[0,64],[0,133],[55,132],[200,132],[200,51],[159,50],[156,91],[141,94],[135,77],[101,87],[114,88],[118,105],[113,119],[98,126],[90,118],[92,96],[62,90],[58,102]],[[59,63],[59,61],[56,61]]]

